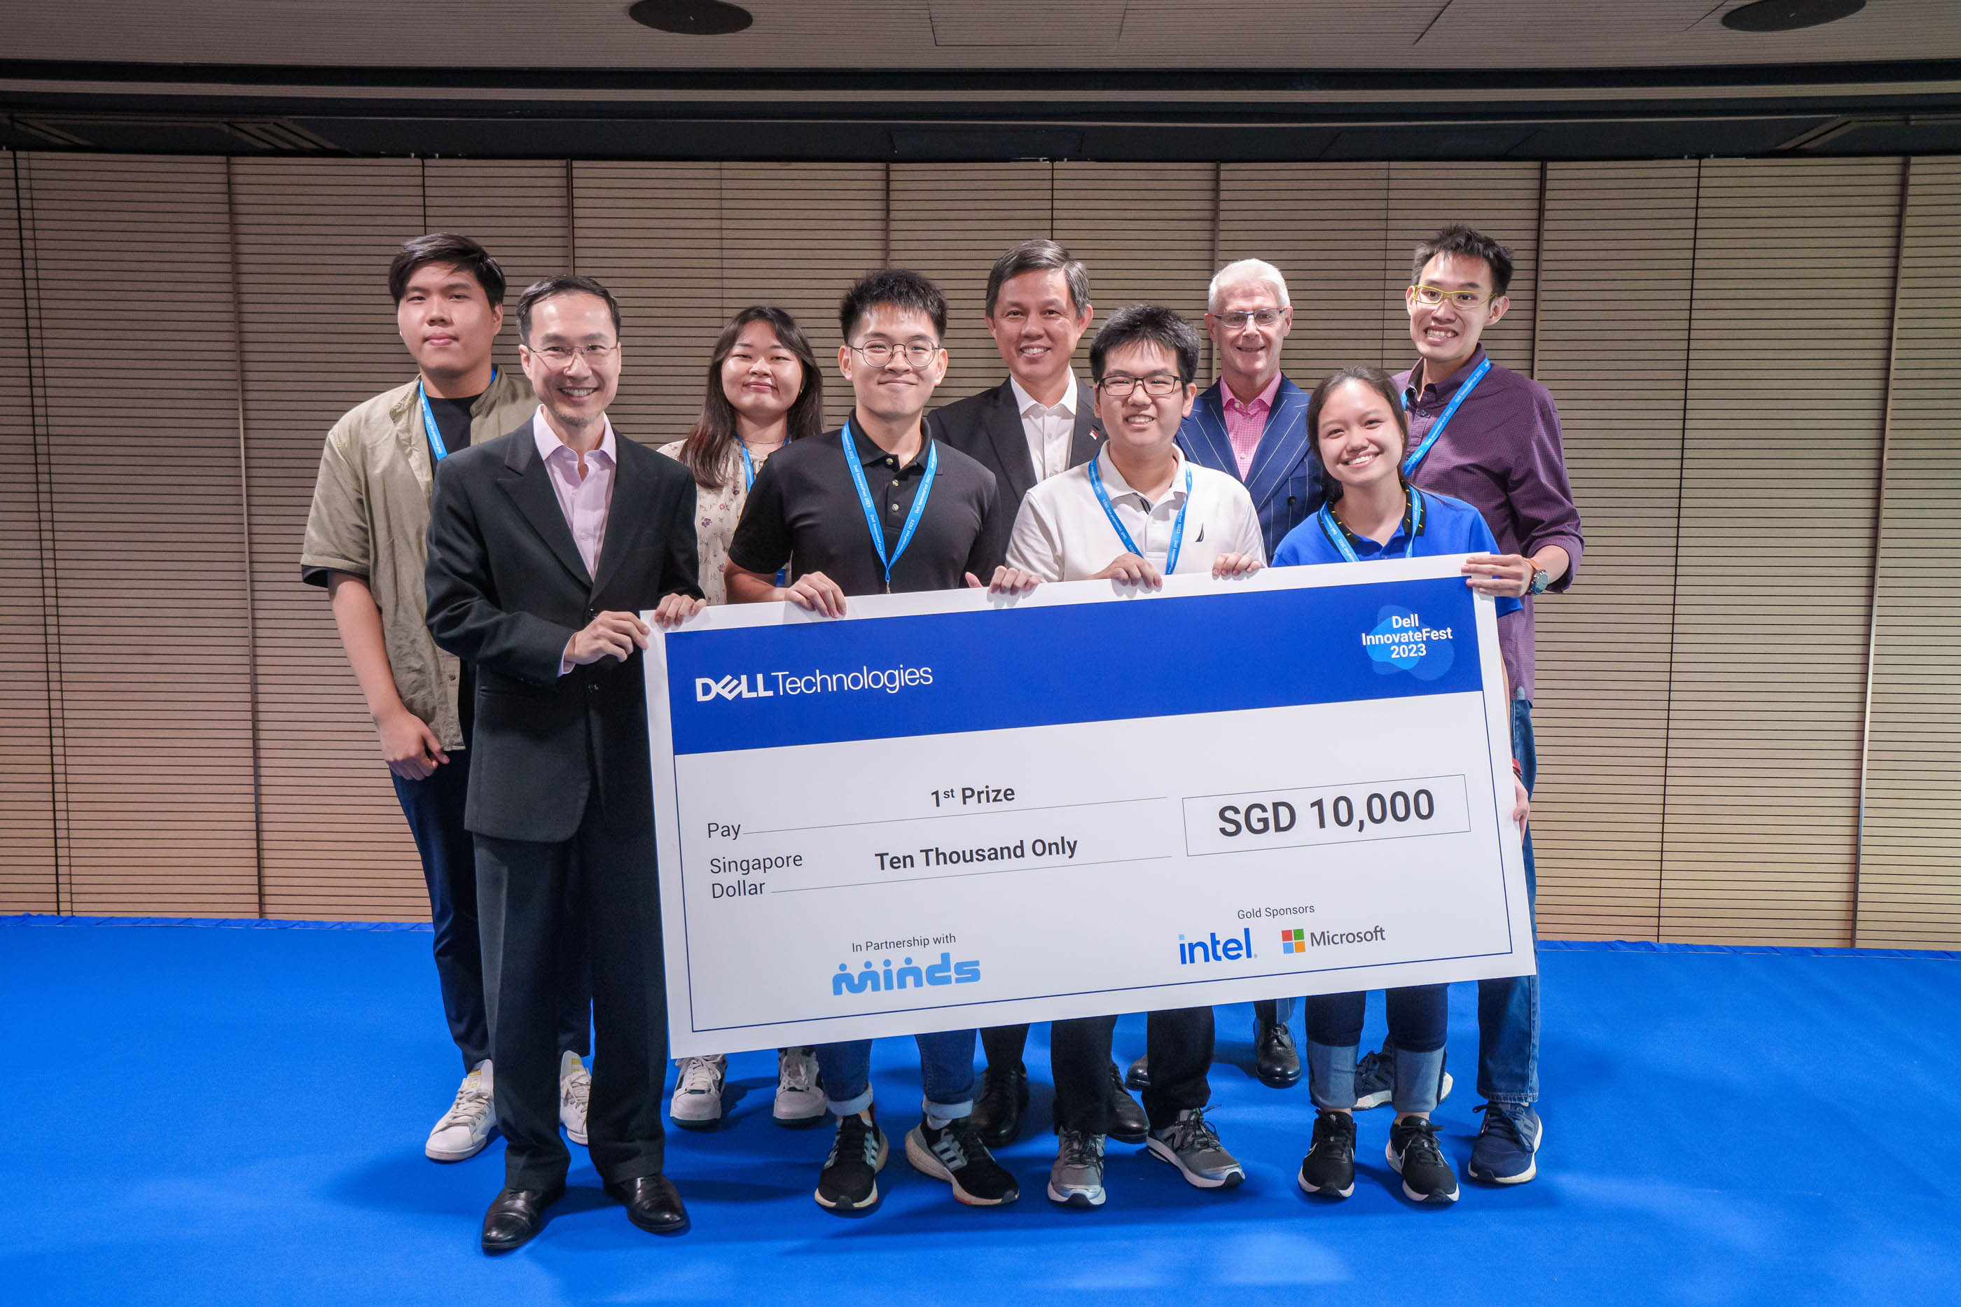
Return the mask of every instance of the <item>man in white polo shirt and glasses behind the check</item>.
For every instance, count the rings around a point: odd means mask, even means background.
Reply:
[[[1173,572],[1241,576],[1265,566],[1259,513],[1245,486],[1179,453],[1179,423],[1198,396],[1196,370],[1198,333],[1171,310],[1133,304],[1110,315],[1090,345],[1096,415],[1110,439],[1092,460],[1028,492],[992,590],[1096,578],[1157,588]],[[1104,1201],[1102,1152],[1116,1121],[1114,1029],[1112,1015],[1057,1021],[1049,1031],[1059,1138],[1049,1197],[1067,1207]],[[1200,1189],[1237,1186],[1245,1170],[1204,1115],[1212,1009],[1153,1011],[1145,1039],[1151,1156]]]

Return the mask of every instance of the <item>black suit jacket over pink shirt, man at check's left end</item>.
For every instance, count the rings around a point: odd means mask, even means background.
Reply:
[[[437,464],[429,506],[429,635],[477,666],[465,825],[571,839],[588,799],[608,825],[653,825],[641,654],[559,676],[565,643],[606,609],[700,596],[694,478],[618,437],[598,576],[565,523],[531,423]]]

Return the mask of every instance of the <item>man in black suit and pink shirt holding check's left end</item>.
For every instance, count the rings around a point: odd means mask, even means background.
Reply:
[[[586,1137],[633,1225],[686,1227],[661,1174],[667,990],[655,888],[653,782],[641,649],[647,625],[700,609],[694,480],[618,439],[620,306],[590,278],[551,276],[518,300],[529,421],[441,462],[429,513],[429,633],[477,666],[465,825],[477,843],[504,1189],[484,1252],[506,1252],[565,1193],[553,950],[573,864],[590,933],[598,1041]]]

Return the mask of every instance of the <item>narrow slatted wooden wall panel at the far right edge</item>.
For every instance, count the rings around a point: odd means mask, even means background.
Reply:
[[[1914,159],[1904,237],[1857,941],[1961,948],[1961,159]]]

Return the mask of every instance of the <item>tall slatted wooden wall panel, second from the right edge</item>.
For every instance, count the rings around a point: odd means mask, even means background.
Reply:
[[[1898,159],[1702,165],[1661,937],[1843,944]]]

